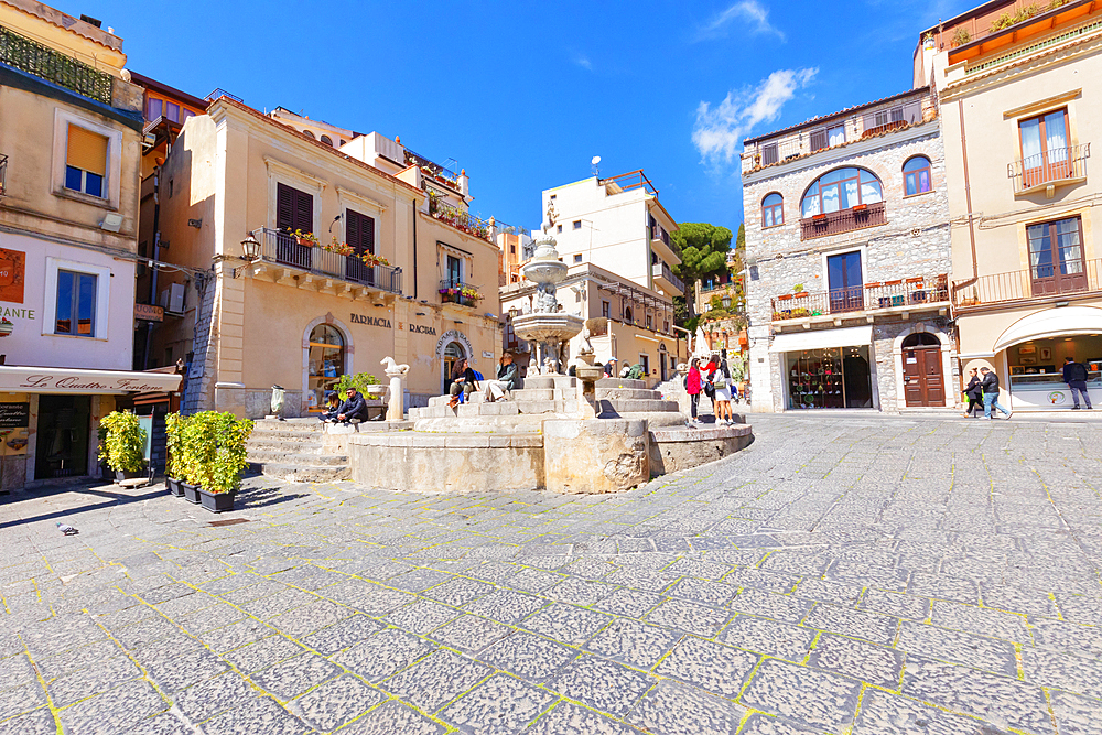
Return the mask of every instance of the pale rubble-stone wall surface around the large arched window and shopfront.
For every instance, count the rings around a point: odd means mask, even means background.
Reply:
[[[749,267],[746,307],[749,316],[752,404],[755,411],[784,410],[782,356],[770,353],[774,329],[773,300],[800,285],[808,292],[829,290],[827,258],[861,251],[865,283],[937,277],[951,269],[949,203],[944,149],[937,120],[893,131],[875,139],[828,149],[789,163],[744,175],[746,258]],[[905,196],[903,165],[915,155],[930,160],[932,191]],[[886,223],[828,237],[801,239],[801,199],[821,175],[835,169],[856,166],[872,171],[880,181]],[[782,225],[761,226],[761,201],[770,193],[784,197]],[[846,318],[817,328],[867,324]],[[909,317],[894,316],[876,324],[871,359],[876,364],[874,392],[882,410],[899,408],[899,378],[894,343],[919,322],[931,323],[929,312]],[[877,317],[879,322],[879,317]],[[952,343],[948,335],[946,344]]]

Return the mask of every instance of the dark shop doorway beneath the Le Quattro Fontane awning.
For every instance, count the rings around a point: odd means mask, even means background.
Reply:
[[[40,396],[34,478],[87,475],[90,423],[91,397]]]

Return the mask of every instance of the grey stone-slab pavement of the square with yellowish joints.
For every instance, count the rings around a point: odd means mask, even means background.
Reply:
[[[752,418],[615,496],[18,496],[0,733],[1102,733],[1099,428]]]

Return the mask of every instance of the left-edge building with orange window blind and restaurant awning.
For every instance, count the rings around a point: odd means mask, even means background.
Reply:
[[[0,4],[0,489],[98,474],[96,428],[177,376],[131,371],[142,94],[122,40]]]

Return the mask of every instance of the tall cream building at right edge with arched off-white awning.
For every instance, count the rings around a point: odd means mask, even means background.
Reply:
[[[990,366],[1014,410],[1102,403],[1102,7],[988,2],[922,34],[916,85],[939,95],[962,374]],[[959,390],[959,387],[958,387]]]

